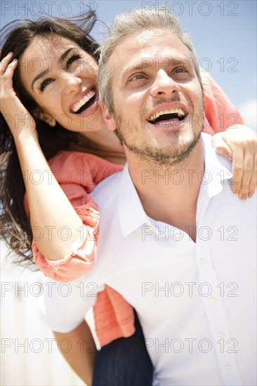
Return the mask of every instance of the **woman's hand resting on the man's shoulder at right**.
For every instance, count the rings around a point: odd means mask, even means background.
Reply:
[[[218,154],[232,159],[232,191],[243,200],[252,197],[256,189],[256,133],[244,125],[232,126],[213,135],[212,143]]]

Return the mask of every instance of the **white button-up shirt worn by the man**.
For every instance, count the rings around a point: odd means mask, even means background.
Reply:
[[[44,320],[60,332],[81,323],[105,284],[121,293],[138,313],[154,385],[256,385],[256,196],[232,194],[230,163],[210,138],[202,135],[196,243],[146,215],[126,166],[93,192],[95,268],[67,296],[44,291]]]

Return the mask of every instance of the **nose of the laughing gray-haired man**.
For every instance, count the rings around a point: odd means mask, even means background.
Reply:
[[[169,96],[180,91],[180,86],[169,76],[164,69],[159,69],[152,85],[152,96],[158,98],[160,96]]]

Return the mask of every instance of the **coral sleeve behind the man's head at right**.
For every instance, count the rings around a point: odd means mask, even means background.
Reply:
[[[202,72],[204,86],[204,132],[213,135],[225,131],[229,126],[244,124],[239,111],[232,104],[228,96],[208,74]]]

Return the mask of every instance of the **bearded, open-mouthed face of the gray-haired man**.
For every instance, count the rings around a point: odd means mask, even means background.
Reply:
[[[110,67],[113,118],[125,149],[159,165],[183,161],[199,139],[204,112],[188,48],[167,30],[145,30],[114,49]]]

